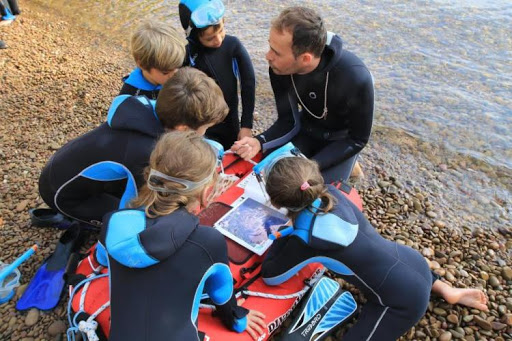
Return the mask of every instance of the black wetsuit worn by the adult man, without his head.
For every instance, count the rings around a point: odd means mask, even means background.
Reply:
[[[320,64],[304,75],[276,75],[269,69],[276,100],[277,121],[256,136],[263,150],[292,141],[304,155],[320,165],[326,181],[348,179],[356,155],[370,138],[373,121],[373,79],[365,64],[342,49],[341,38],[328,34]],[[327,117],[324,111],[327,84]],[[300,100],[295,93],[292,78]]]

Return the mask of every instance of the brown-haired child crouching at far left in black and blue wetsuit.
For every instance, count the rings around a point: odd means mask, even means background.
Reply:
[[[93,180],[85,174],[89,167],[117,162],[140,187],[142,171],[161,134],[195,130],[204,135],[227,112],[222,91],[210,77],[181,68],[164,84],[156,102],[145,96],[116,97],[105,123],[68,142],[50,158],[39,178],[39,193],[53,211],[98,227],[105,213],[118,208],[125,180]],[[33,222],[38,221],[35,212]]]

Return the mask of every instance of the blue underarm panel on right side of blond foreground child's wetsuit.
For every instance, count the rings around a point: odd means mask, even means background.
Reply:
[[[203,275],[192,303],[192,315],[190,317],[194,324],[199,314],[199,303],[203,292],[206,292],[215,304],[226,304],[233,295],[233,276],[229,266],[223,263],[215,263]]]

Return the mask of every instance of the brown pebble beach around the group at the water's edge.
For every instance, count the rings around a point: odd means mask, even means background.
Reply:
[[[43,205],[37,191],[39,173],[61,145],[105,119],[121,77],[132,67],[128,51],[118,43],[46,8],[26,1],[21,5],[22,15],[0,27],[0,39],[9,45],[0,50],[0,260],[9,263],[34,243],[40,249],[20,268],[23,285],[17,297],[59,235],[30,225],[28,209]],[[257,110],[272,112],[270,87],[263,83],[258,94],[266,98]],[[257,115],[256,129],[271,120]],[[366,177],[356,186],[379,232],[419,250],[447,282],[482,288],[489,297],[488,313],[433,298],[425,317],[403,340],[512,339],[510,222],[458,213],[464,205],[499,205],[499,198],[491,202],[468,197],[454,203],[443,196],[443,186],[449,186],[452,177],[468,174],[467,162],[447,159],[407,135],[390,139],[383,128],[375,129],[363,153]],[[499,176],[489,174],[491,179]],[[489,222],[484,226],[489,228],[483,228],[483,222]],[[20,313],[15,302],[0,306],[0,340],[65,338],[65,299],[51,312]],[[341,339],[342,333],[332,340]]]

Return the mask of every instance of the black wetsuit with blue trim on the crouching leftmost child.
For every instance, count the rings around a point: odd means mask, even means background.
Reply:
[[[154,101],[144,96],[116,97],[107,122],[68,142],[50,158],[39,178],[41,197],[73,219],[100,225],[105,213],[118,208],[126,180],[95,181],[81,172],[98,162],[114,161],[128,168],[140,187],[143,169],[163,132]]]

